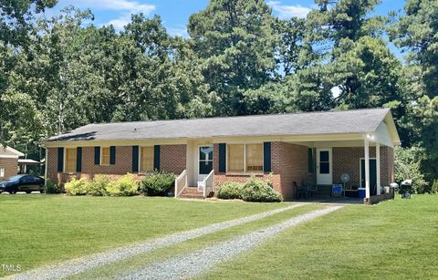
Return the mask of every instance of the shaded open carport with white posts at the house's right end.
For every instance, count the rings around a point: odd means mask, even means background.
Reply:
[[[384,135],[383,135],[384,136]],[[296,200],[372,203],[391,198],[393,146],[379,133],[361,140],[299,142],[307,145],[309,175],[294,181]]]

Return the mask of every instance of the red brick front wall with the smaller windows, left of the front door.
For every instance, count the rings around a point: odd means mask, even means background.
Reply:
[[[185,169],[185,145],[162,145],[160,147],[160,169],[176,174]],[[116,146],[116,162],[112,165],[94,164],[94,147],[82,148],[82,172],[58,173],[57,148],[47,148],[47,178],[66,182],[73,176],[93,178],[96,174],[106,174],[117,178],[128,172],[132,173],[132,146]],[[139,175],[141,176],[141,175]]]

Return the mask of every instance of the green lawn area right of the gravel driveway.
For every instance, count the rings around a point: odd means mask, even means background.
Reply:
[[[278,234],[206,279],[438,278],[438,196],[351,205]]]

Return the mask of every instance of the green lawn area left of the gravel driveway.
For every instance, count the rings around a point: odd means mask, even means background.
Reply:
[[[266,212],[287,203],[0,195],[0,265],[23,271],[123,244]],[[0,270],[0,276],[13,272]]]

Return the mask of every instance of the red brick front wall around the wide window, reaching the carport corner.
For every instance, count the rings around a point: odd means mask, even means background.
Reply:
[[[293,181],[301,183],[308,176],[308,147],[285,142],[271,144],[272,174],[258,174],[256,177],[270,181],[276,191],[280,192],[285,200],[295,197]],[[225,174],[219,172],[219,145],[214,144],[214,181],[220,185],[225,181],[245,182],[249,174]]]

